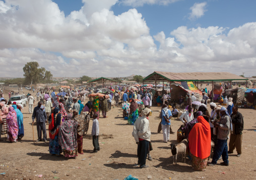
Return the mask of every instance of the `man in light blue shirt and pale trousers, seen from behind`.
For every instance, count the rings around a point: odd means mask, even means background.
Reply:
[[[171,125],[171,119],[172,114],[171,110],[168,109],[168,106],[166,104],[163,105],[162,109],[162,129],[163,129],[163,136],[164,136],[164,142],[168,142],[170,140],[170,125]]]

